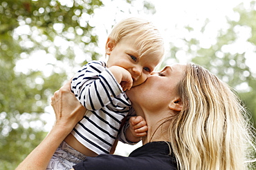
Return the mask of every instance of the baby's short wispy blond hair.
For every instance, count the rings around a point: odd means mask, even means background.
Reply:
[[[163,57],[164,41],[152,22],[136,17],[127,18],[117,23],[109,34],[114,44],[129,36],[138,36],[134,43],[138,46],[139,57],[147,54]]]

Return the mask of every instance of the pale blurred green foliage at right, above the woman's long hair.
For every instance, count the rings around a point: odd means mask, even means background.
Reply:
[[[185,56],[190,56],[190,61],[228,83],[240,96],[256,127],[256,70],[251,63],[251,59],[256,58],[256,24],[252,22],[256,18],[255,7],[255,1],[251,1],[249,7],[244,3],[237,6],[235,17],[227,17],[226,25],[218,30],[216,41],[210,45],[203,44],[202,39],[208,36],[214,23],[207,19],[199,32],[188,25],[187,36],[180,40],[183,45],[171,43],[170,57],[180,61],[179,52],[183,51]],[[199,36],[194,36],[195,32]]]

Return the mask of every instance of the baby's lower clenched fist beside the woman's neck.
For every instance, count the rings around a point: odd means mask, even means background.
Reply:
[[[141,116],[132,116],[129,119],[129,127],[125,133],[127,140],[131,142],[139,142],[141,137],[147,135],[147,123]]]

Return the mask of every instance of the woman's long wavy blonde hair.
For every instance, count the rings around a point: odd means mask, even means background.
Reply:
[[[179,169],[248,169],[254,129],[230,87],[188,64],[178,91],[183,109],[170,118],[169,134]]]

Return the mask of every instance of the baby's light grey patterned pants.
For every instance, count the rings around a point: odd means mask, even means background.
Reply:
[[[62,142],[51,158],[46,170],[72,169],[73,165],[82,162],[86,156],[73,149],[66,142]]]

